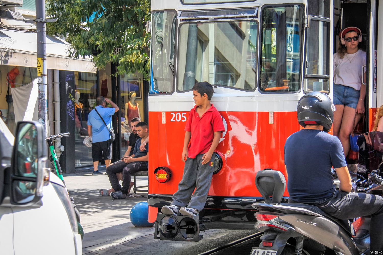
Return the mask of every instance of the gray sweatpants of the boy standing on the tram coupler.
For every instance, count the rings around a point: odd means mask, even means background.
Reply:
[[[173,194],[172,205],[187,206],[197,211],[201,211],[205,206],[214,166],[211,166],[213,165],[211,164],[213,157],[210,162],[202,165],[202,156],[203,154],[198,154],[195,159],[188,158],[185,162],[182,180],[178,184],[178,191]],[[194,188],[196,190],[191,197]]]

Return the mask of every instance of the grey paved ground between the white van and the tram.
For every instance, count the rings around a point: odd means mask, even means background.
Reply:
[[[137,186],[147,185],[147,177],[136,177]],[[147,201],[147,193],[142,197],[128,197],[113,200],[100,196],[98,190],[110,188],[107,175],[64,174],[70,196],[80,211],[84,229],[83,254],[126,255],[126,254],[169,254],[197,255],[220,245],[255,233],[253,230],[209,229],[200,242],[173,242],[154,239],[154,227],[134,227],[130,222],[131,208],[139,202]],[[254,241],[233,248],[235,254],[250,254]],[[219,254],[234,254],[229,253]]]

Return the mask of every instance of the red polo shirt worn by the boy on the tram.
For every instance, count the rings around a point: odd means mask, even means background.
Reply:
[[[202,115],[196,112],[197,106],[190,110],[186,122],[185,131],[191,132],[190,144],[188,147],[188,158],[194,159],[198,154],[207,153],[213,143],[214,132],[224,132],[222,117],[218,110],[211,104],[211,107]]]

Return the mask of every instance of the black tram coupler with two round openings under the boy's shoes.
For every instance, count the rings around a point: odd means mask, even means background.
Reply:
[[[167,215],[158,213],[155,220],[154,239],[199,242],[205,231],[205,224],[199,223],[199,216]]]

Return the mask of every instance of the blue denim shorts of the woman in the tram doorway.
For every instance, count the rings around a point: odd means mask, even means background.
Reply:
[[[334,104],[343,104],[344,106],[348,106],[354,109],[357,108],[360,90],[335,83],[333,89]]]

